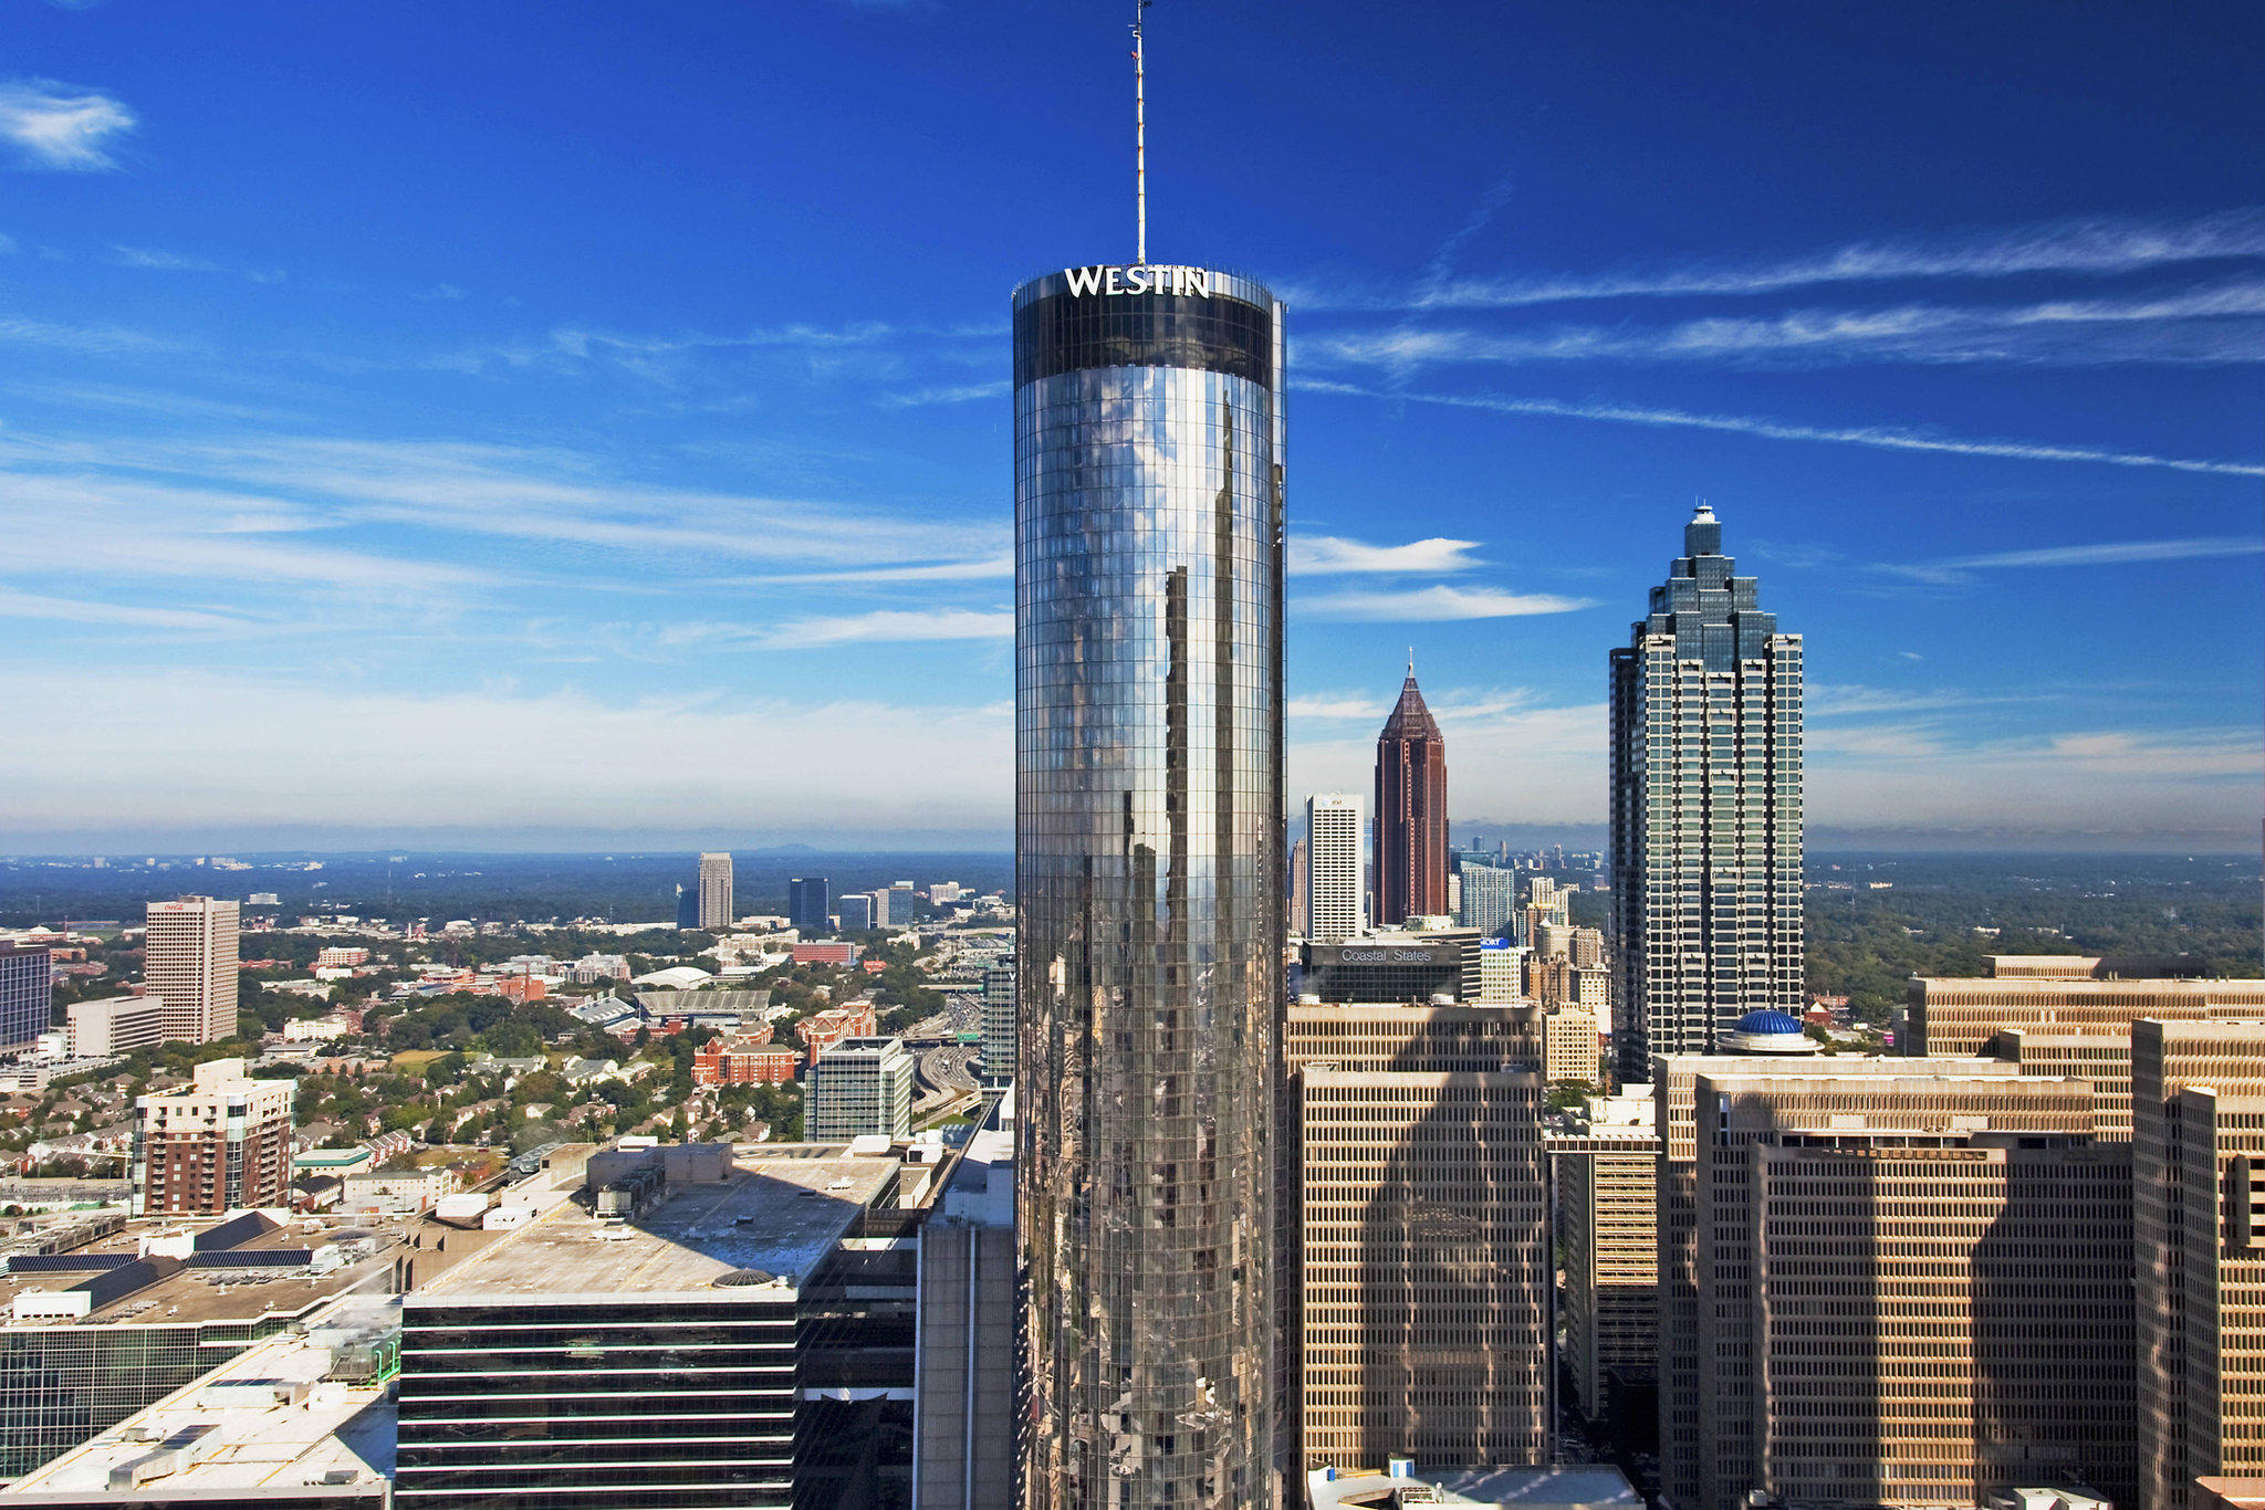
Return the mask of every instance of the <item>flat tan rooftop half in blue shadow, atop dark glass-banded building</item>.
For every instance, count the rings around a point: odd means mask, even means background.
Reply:
[[[557,1295],[682,1295],[736,1270],[795,1284],[897,1177],[895,1157],[781,1146],[723,1182],[677,1184],[630,1220],[562,1200],[410,1295],[410,1306]]]

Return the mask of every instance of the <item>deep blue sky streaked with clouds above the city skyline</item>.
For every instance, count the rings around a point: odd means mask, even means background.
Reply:
[[[0,844],[1003,840],[1121,9],[14,0]],[[2258,7],[1148,16],[1151,256],[1293,306],[1293,799],[1413,647],[1459,826],[1601,822],[1703,496],[1812,844],[2256,842]]]

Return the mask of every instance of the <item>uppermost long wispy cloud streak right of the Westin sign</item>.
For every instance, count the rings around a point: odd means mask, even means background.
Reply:
[[[1506,310],[1595,299],[1749,297],[1841,283],[2104,276],[2240,258],[2265,258],[2265,208],[2174,222],[2093,217],[1948,238],[1864,240],[1776,263],[1708,260],[1524,278],[1445,278],[1427,269],[1404,294],[1350,292],[1332,299],[1330,290],[1314,290],[1309,301],[1320,308]]]

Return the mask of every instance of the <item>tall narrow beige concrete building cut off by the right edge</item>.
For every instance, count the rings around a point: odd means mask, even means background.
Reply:
[[[2265,1476],[2265,1021],[2131,1035],[2140,1505]]]

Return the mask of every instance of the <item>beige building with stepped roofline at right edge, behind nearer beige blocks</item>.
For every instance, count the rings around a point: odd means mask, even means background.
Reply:
[[[2131,1023],[2265,1016],[2265,980],[2143,976],[2177,960],[1995,955],[1984,978],[1914,976],[1903,1048],[1991,1055],[2025,1075],[2082,1075],[2100,1091],[2100,1136],[2131,1136]]]

